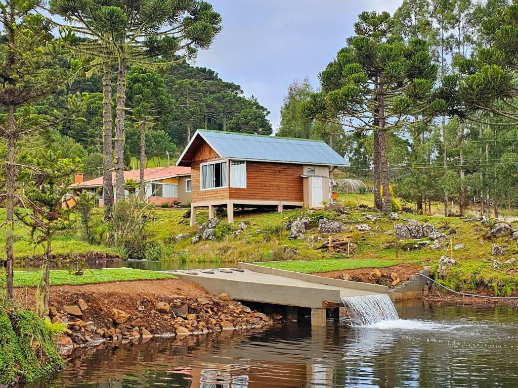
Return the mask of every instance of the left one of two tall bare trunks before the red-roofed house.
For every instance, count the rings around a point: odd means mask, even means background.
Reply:
[[[113,181],[111,176],[113,154],[111,137],[111,71],[110,66],[105,65],[103,71],[103,206],[105,221],[110,220],[111,208],[113,206]]]

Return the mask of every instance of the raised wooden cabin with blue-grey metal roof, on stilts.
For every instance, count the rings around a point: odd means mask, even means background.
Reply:
[[[323,141],[197,130],[178,159],[191,167],[191,226],[196,209],[226,207],[325,207],[332,174],[346,162]]]

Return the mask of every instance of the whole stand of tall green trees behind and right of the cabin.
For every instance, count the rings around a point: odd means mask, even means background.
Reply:
[[[320,85],[295,80],[277,135],[311,137],[371,182],[376,207],[396,196],[420,214],[441,203],[498,217],[515,208],[518,6],[506,0],[405,0],[363,12]]]

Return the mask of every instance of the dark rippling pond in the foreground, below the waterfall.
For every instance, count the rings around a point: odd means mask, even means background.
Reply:
[[[51,387],[515,387],[518,310],[422,301],[395,324],[269,329],[84,348]]]

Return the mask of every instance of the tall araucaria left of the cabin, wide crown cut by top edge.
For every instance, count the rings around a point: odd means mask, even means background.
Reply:
[[[196,0],[53,0],[51,10],[78,23],[76,31],[117,65],[114,161],[117,198],[123,199],[127,67],[157,69],[194,57],[220,32],[221,17]]]

